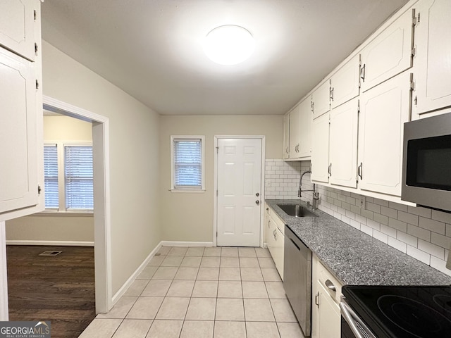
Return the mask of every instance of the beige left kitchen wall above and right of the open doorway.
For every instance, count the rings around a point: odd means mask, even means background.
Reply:
[[[44,95],[109,118],[113,293],[161,242],[159,115],[43,42]]]

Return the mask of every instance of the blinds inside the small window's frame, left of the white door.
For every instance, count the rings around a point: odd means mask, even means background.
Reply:
[[[201,139],[174,139],[175,189],[202,188]]]

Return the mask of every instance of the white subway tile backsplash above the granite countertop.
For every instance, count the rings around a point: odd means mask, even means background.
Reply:
[[[307,170],[309,161],[266,160],[266,199],[299,199],[299,178]],[[302,189],[311,187],[310,175],[304,175]],[[359,194],[316,187],[319,208],[325,213],[451,276],[451,270],[445,268],[451,245],[451,214],[369,196],[365,196],[366,206],[360,208]],[[302,192],[302,200],[311,201],[311,192]]]

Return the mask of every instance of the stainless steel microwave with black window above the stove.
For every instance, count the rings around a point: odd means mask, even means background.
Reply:
[[[451,113],[404,123],[401,198],[451,212]]]

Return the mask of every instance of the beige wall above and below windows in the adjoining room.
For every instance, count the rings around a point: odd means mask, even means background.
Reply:
[[[44,116],[45,142],[92,142],[92,125],[68,116]],[[92,215],[29,215],[6,222],[6,240],[94,242]]]

